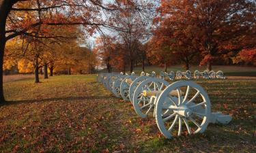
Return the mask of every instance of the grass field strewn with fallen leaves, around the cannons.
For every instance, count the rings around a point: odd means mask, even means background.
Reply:
[[[96,82],[95,75],[60,75],[3,84],[0,152],[255,152],[256,80],[199,80],[212,111],[230,114],[203,134],[165,139],[153,118]]]

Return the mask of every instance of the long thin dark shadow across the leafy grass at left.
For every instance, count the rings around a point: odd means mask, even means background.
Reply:
[[[42,102],[63,102],[63,101],[79,101],[79,100],[96,100],[96,99],[110,99],[111,96],[81,96],[81,97],[57,97],[57,98],[47,98],[47,99],[29,99],[29,100],[19,100],[19,101],[6,101],[5,103],[1,103],[2,105],[17,105],[20,103],[42,103]],[[86,101],[85,101],[86,102]]]

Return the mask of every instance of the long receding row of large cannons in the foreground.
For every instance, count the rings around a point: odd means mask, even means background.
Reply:
[[[211,112],[208,93],[193,81],[169,84],[156,78],[156,73],[99,73],[97,80],[115,97],[130,101],[141,118],[154,116],[158,129],[169,139],[184,133],[203,133],[209,123],[231,121],[229,115]]]

